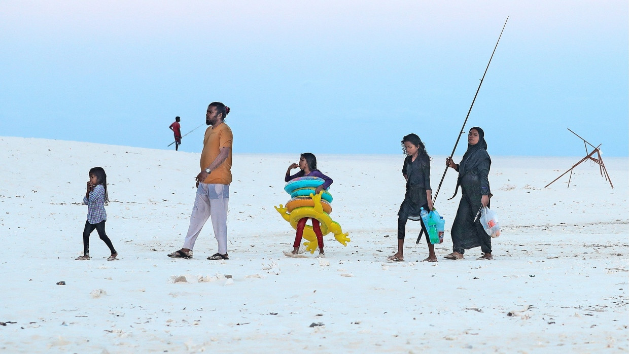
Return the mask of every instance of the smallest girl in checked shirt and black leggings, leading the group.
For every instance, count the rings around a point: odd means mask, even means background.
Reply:
[[[87,220],[83,230],[83,255],[76,260],[89,260],[89,235],[96,229],[98,236],[109,247],[111,256],[107,260],[117,260],[118,252],[114,250],[111,240],[105,233],[105,203],[109,202],[107,194],[107,175],[102,167],[94,167],[89,170],[89,181],[87,181],[87,192],[83,197],[84,204],[87,204]]]

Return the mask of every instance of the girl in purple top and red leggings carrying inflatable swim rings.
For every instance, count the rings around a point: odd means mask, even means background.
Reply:
[[[301,169],[294,175],[291,175],[291,170],[299,167]],[[286,177],[284,178],[284,182],[289,182],[290,180],[296,179],[298,177],[319,177],[320,179],[325,180],[323,184],[319,187],[316,187],[315,194],[319,194],[323,189],[328,189],[332,184],[333,180],[321,173],[320,170],[316,169],[316,157],[312,153],[304,152],[299,157],[299,164],[292,163],[288,169],[286,170]],[[315,218],[301,218],[297,223],[297,233],[295,235],[295,242],[292,244],[292,252],[284,252],[285,255],[297,255],[299,253],[299,244],[301,243],[301,238],[303,237],[304,228],[306,227],[306,221],[311,219],[313,223],[313,231],[315,231],[316,241],[319,246],[319,255],[320,258],[325,258],[325,254],[323,253],[323,234],[321,233],[321,228],[319,226],[319,221]]]

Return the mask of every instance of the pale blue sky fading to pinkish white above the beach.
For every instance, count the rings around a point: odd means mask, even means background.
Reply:
[[[1,1],[0,135],[166,148],[231,107],[240,153],[629,151],[627,1]],[[199,152],[204,128],[181,150]],[[465,149],[465,140],[457,153]]]

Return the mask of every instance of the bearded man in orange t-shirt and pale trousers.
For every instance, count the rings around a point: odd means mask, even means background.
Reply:
[[[195,177],[197,192],[190,216],[190,226],[179,251],[170,253],[171,258],[192,258],[192,248],[203,225],[212,218],[218,252],[208,257],[213,260],[229,259],[227,254],[227,205],[231,183],[231,129],[225,124],[230,108],[221,102],[208,106],[205,123],[211,125],[205,131],[201,172]]]

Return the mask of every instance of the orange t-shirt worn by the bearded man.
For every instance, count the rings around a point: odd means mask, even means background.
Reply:
[[[205,170],[216,160],[221,148],[230,148],[227,158],[219,167],[212,170],[212,173],[203,181],[203,183],[212,184],[230,184],[231,183],[231,134],[230,127],[225,123],[221,123],[214,128],[210,126],[205,131],[203,138],[203,151],[201,152],[201,170]]]

